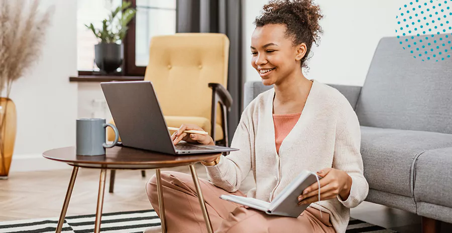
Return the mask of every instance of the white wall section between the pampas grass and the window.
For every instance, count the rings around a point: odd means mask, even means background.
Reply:
[[[38,63],[13,84],[18,125],[11,172],[60,167],[42,152],[75,145],[77,84],[69,83],[69,76],[77,75],[76,0],[41,4],[43,9],[54,5],[55,11]]]

